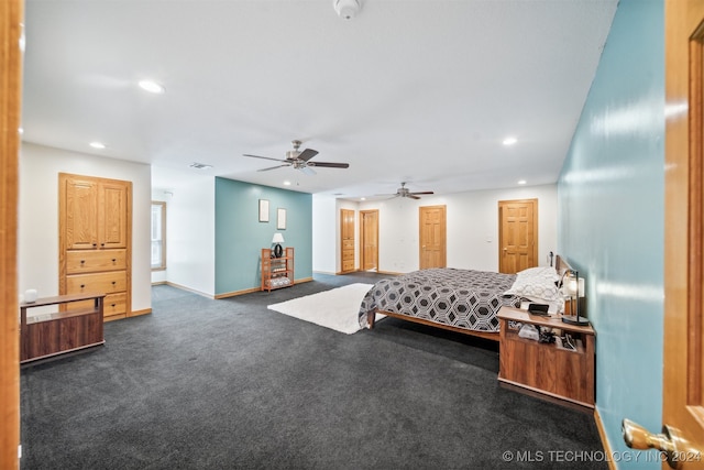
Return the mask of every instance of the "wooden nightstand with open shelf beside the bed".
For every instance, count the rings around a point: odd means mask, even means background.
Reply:
[[[595,336],[591,326],[568,325],[557,316],[541,317],[512,307],[503,307],[498,319],[499,381],[594,407]],[[520,338],[513,323],[559,328],[575,339],[576,350]]]

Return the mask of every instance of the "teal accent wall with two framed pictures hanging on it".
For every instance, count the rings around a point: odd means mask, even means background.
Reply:
[[[270,201],[270,221],[258,221],[258,200]],[[286,230],[276,209],[286,209]],[[261,250],[275,232],[295,249],[296,280],[312,277],[312,195],[216,178],[216,295],[258,287]]]

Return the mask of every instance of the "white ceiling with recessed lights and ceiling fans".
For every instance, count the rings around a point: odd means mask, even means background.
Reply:
[[[333,0],[26,0],[23,140],[345,198],[550,184],[616,4],[364,0],[343,20]],[[242,156],[294,139],[350,168]]]

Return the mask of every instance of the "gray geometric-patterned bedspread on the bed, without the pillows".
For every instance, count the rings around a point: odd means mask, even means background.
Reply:
[[[415,271],[377,282],[360,307],[360,326],[376,310],[422,318],[475,331],[498,331],[496,314],[520,298],[504,296],[515,274],[458,269]]]

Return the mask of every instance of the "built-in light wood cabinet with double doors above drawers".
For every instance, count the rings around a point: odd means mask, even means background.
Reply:
[[[59,294],[105,293],[105,320],[124,318],[131,314],[132,183],[58,178]]]

